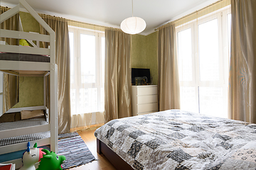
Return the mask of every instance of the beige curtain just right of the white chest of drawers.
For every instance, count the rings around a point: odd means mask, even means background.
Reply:
[[[159,29],[159,111],[180,108],[178,61],[174,24]]]

